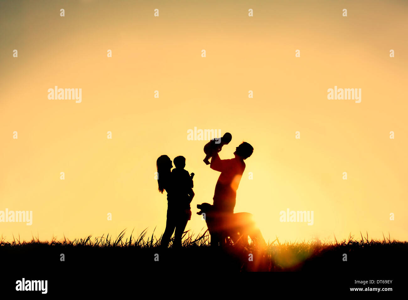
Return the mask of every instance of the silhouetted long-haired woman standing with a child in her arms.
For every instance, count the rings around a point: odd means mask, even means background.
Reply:
[[[175,182],[171,173],[173,164],[167,155],[162,155],[157,158],[157,184],[159,185],[160,193],[167,192],[167,220],[166,229],[164,230],[161,247],[167,248],[170,238],[174,233],[173,247],[181,247],[182,235],[186,228],[188,217],[186,217],[185,209],[180,206],[177,199],[177,191],[175,191]],[[191,216],[191,214],[190,214]]]

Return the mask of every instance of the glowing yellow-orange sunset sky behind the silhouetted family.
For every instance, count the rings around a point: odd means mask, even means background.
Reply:
[[[219,173],[206,141],[187,139],[197,127],[231,132],[222,159],[253,145],[235,212],[266,240],[407,240],[407,13],[395,0],[0,2],[0,211],[33,211],[0,234],[158,238],[162,154],[195,173],[186,229],[199,233],[195,206],[212,203]],[[49,100],[55,86],[82,102]],[[335,86],[361,103],[328,100]],[[313,225],[280,222],[286,209],[313,211]]]

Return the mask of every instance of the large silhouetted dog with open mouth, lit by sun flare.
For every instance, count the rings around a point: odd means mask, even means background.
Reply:
[[[246,246],[248,245],[248,236],[256,246],[264,247],[266,245],[251,213],[220,213],[209,203],[197,204],[197,208],[200,209],[197,215],[205,214],[203,217],[211,235],[211,245],[213,242],[223,243],[225,238],[230,237],[234,244]]]

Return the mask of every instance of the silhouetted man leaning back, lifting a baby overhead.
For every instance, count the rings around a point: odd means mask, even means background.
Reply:
[[[224,244],[226,238],[224,228],[228,227],[228,216],[234,213],[238,185],[245,170],[244,160],[251,156],[253,150],[250,144],[242,142],[235,149],[235,158],[222,160],[218,153],[211,158],[210,168],[221,172],[213,198],[214,224],[217,231],[211,235],[211,246]]]

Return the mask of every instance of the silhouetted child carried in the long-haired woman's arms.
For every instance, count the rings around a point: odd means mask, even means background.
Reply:
[[[171,171],[173,181],[172,197],[177,202],[180,219],[185,217],[186,220],[191,220],[190,203],[194,198],[194,173],[190,175],[190,173],[184,169],[186,166],[186,158],[184,158],[184,156],[177,156],[173,162],[175,168]]]

